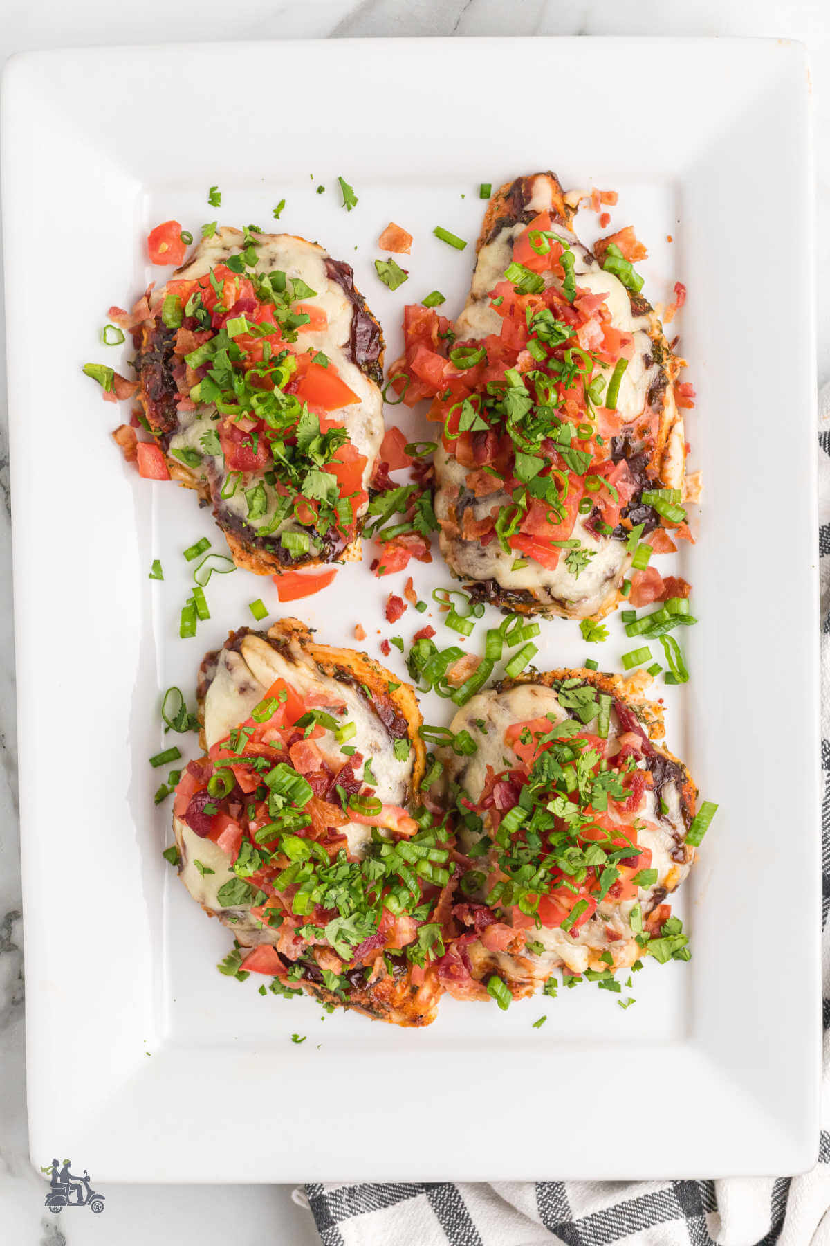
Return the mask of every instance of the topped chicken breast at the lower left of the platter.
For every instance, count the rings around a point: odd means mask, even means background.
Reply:
[[[432,913],[449,873],[416,875],[394,846],[411,861],[449,851],[426,811],[404,807],[424,765],[412,689],[282,619],[208,654],[198,701],[207,755],[177,790],[179,873],[254,948],[241,967],[428,1024],[441,988],[424,961],[443,949]]]

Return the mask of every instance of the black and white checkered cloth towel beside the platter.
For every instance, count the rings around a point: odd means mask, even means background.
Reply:
[[[819,397],[824,1087],[805,1176],[307,1185],[324,1246],[830,1246],[830,384]]]

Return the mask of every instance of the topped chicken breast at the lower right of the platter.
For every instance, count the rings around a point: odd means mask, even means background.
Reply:
[[[657,743],[660,706],[617,677],[557,670],[474,697],[463,730],[475,751],[443,755],[467,855],[444,988],[485,998],[495,977],[497,997],[500,982],[519,998],[556,968],[612,973],[646,954],[694,858],[697,792]]]

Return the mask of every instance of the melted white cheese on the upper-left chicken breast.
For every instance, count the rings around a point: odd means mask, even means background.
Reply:
[[[304,331],[302,328],[299,330],[296,349],[321,350],[336,366],[346,385],[357,395],[357,402],[341,407],[338,411],[331,411],[329,416],[342,420],[350,440],[360,454],[366,456],[363,470],[363,487],[366,488],[383,440],[383,400],[375,381],[366,376],[348,358],[353,305],[342,287],[329,277],[325,264],[327,252],[316,243],[295,238],[291,234],[254,234],[254,239],[256,265],[246,272],[270,273],[279,269],[287,278],[301,278],[306,285],[315,290],[314,297],[301,302],[319,307],[326,313],[329,323],[325,329],[315,333]],[[204,277],[217,264],[226,260],[229,255],[239,254],[243,249],[243,234],[239,229],[228,227],[218,229],[213,238],[202,239],[190,263],[177,273],[177,279],[187,280]],[[157,305],[163,297],[164,290],[162,289],[153,297],[153,305]],[[197,412],[182,412],[179,429],[170,439],[170,449],[202,451],[199,439],[208,429],[215,429],[213,416],[215,416],[214,406],[199,409]],[[205,457],[202,472],[219,492],[224,480],[221,456]],[[263,482],[266,490],[269,505],[265,515],[250,518],[245,490],[258,481]],[[264,482],[263,473],[249,473],[244,486],[238,487],[230,498],[224,498],[221,505],[253,528],[260,528],[269,523],[276,506],[276,498],[277,493]],[[368,503],[365,503],[363,508]],[[286,520],[274,532],[280,533],[286,530],[306,531],[292,520]]]

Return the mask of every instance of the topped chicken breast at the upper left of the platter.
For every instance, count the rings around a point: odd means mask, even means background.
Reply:
[[[137,307],[148,427],[236,564],[360,558],[383,336],[348,264],[292,234],[223,227]]]

